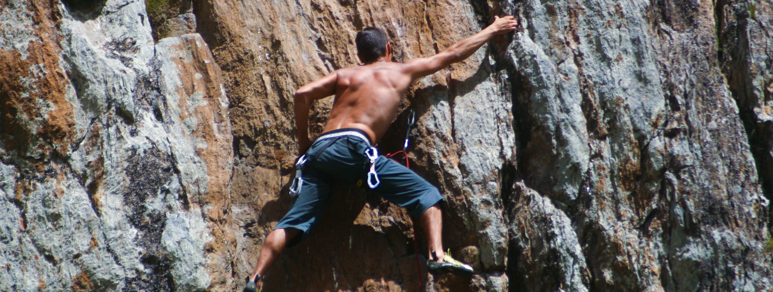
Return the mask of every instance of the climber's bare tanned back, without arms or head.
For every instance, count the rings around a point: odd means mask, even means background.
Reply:
[[[380,62],[335,71],[335,101],[322,132],[354,128],[378,143],[413,78],[405,65]]]

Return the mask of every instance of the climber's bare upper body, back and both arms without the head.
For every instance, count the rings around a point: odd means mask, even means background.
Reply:
[[[310,101],[335,94],[332,112],[325,129],[354,128],[363,130],[378,143],[389,128],[400,98],[417,78],[434,74],[448,65],[465,60],[493,36],[509,33],[518,22],[512,16],[495,17],[494,23],[458,41],[432,57],[420,57],[405,63],[391,60],[390,43],[386,54],[372,64],[335,70],[325,77],[295,91],[295,124],[298,128],[299,154],[311,145],[308,139],[308,105]],[[363,60],[364,61],[364,60]]]

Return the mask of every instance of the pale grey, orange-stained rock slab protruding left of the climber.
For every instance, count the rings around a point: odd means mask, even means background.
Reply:
[[[154,43],[144,2],[96,4],[2,3],[0,290],[225,287],[220,68],[197,34]]]

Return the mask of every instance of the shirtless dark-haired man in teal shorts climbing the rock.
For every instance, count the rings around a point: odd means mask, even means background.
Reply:
[[[404,64],[391,62],[392,47],[386,33],[368,27],[357,33],[357,56],[362,66],[333,71],[295,92],[295,125],[298,128],[296,180],[291,192],[298,194],[288,214],[266,237],[257,266],[247,278],[245,291],[259,291],[268,266],[285,246],[294,246],[308,235],[325,206],[333,184],[363,182],[373,193],[407,208],[419,218],[427,234],[430,253],[427,270],[432,273],[472,273],[472,267],[443,252],[441,209],[438,189],[416,173],[384,156],[376,148],[389,128],[400,98],[417,78],[434,74],[465,60],[493,36],[509,33],[518,22],[512,16],[495,17],[491,26],[449,46],[432,57],[415,58]],[[313,100],[335,94],[325,129],[314,143],[308,139],[308,108]]]

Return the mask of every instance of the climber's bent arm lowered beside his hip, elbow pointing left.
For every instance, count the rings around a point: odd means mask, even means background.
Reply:
[[[306,84],[298,88],[293,94],[295,100],[295,128],[298,129],[298,155],[306,153],[308,147],[312,146],[308,139],[308,107],[311,101],[327,98],[335,94],[335,81],[338,74],[333,71],[318,81]]]

